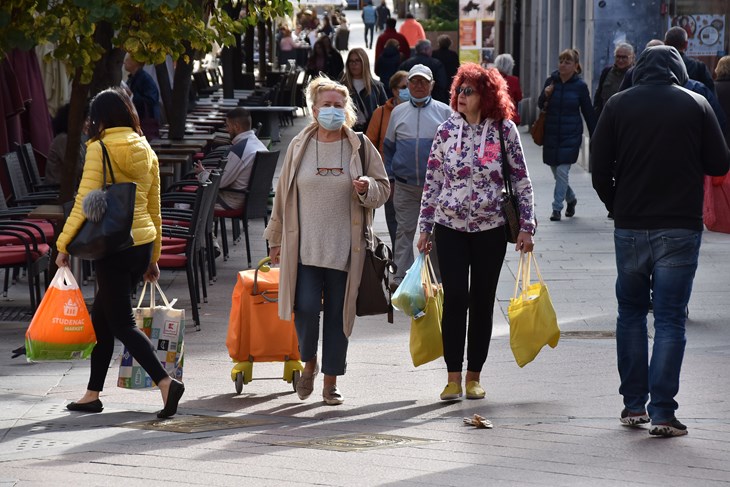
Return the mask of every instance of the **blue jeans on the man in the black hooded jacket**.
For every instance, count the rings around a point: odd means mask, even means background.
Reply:
[[[616,348],[619,393],[631,412],[652,423],[674,418],[686,338],[686,307],[697,270],[702,232],[686,229],[614,230],[616,246]],[[649,361],[646,315],[654,308]]]

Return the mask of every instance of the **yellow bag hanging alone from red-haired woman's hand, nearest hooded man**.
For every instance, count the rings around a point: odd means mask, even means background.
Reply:
[[[530,263],[534,263],[538,282],[530,284]],[[518,294],[518,290],[521,292]],[[560,328],[542,280],[537,260],[532,252],[520,254],[515,291],[507,311],[509,316],[509,344],[517,365],[532,362],[545,345],[555,348],[560,340]]]

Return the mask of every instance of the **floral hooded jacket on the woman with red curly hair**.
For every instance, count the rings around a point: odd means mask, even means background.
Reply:
[[[520,231],[534,233],[532,183],[517,126],[502,122],[512,188],[519,200]],[[463,232],[480,232],[505,224],[502,213],[500,121],[470,125],[456,112],[436,131],[426,169],[419,227],[433,233],[434,223]]]

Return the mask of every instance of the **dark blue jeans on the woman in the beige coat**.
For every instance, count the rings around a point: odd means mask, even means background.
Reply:
[[[322,320],[322,373],[344,375],[348,340],[342,330],[347,272],[299,264],[294,295],[294,326],[303,362],[317,356]]]

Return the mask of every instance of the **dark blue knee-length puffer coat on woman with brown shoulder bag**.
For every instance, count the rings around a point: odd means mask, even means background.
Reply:
[[[545,104],[545,88],[554,84],[553,94],[548,100],[545,120],[545,144],[542,148],[542,161],[549,166],[574,164],[583,142],[583,120],[588,125],[589,134],[596,127],[596,115],[591,104],[588,86],[579,74],[573,75],[563,83],[557,71],[545,81],[537,104],[542,109]]]

